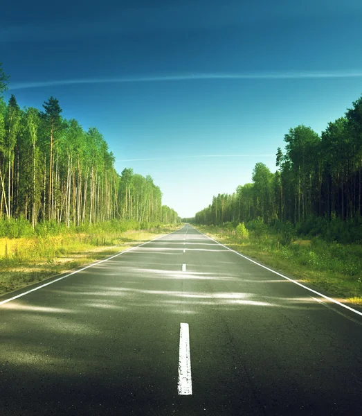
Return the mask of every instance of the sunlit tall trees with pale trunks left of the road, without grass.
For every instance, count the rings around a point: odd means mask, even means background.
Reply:
[[[138,223],[175,223],[177,212],[162,205],[152,177],[125,169],[97,128],[86,132],[64,119],[52,96],[42,111],[21,109],[3,92],[8,76],[0,64],[0,218],[26,218],[35,227],[51,221],[67,226],[114,218]]]

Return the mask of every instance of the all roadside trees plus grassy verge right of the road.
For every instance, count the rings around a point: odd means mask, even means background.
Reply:
[[[362,304],[362,97],[318,135],[284,135],[275,173],[219,194],[187,222],[227,245]]]

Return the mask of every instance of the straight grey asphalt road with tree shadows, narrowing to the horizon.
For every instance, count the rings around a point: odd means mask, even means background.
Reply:
[[[361,324],[185,225],[0,306],[0,415],[361,415]]]

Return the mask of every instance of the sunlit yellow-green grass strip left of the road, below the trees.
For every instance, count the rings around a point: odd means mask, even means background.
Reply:
[[[0,295],[37,283],[127,250],[179,228],[151,225],[127,229],[125,223],[103,223],[83,229],[61,229],[60,234],[0,238]]]

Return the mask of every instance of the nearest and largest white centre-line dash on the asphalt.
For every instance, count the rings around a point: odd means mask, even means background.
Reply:
[[[179,395],[192,395],[190,335],[188,324],[180,324],[179,349],[179,381],[177,383]]]

